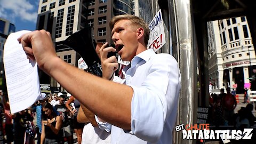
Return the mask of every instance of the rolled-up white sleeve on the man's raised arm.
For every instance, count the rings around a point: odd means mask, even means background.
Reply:
[[[151,143],[161,138],[166,117],[177,113],[172,109],[177,107],[180,90],[177,61],[167,54],[157,54],[156,57],[141,86],[127,84],[134,91],[130,133]]]

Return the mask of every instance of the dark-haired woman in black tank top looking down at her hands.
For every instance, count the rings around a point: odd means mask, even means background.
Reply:
[[[49,102],[42,105],[43,121],[41,144],[59,144],[62,141],[61,116],[58,116],[53,111],[53,107]]]

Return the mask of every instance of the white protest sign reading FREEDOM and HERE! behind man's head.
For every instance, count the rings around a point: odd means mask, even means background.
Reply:
[[[154,51],[158,51],[166,42],[165,42],[165,34],[164,34],[164,22],[162,17],[162,12],[159,10],[153,20],[149,24],[149,41],[148,41],[148,49],[154,49]]]

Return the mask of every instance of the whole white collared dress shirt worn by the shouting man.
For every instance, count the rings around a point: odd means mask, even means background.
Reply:
[[[181,87],[177,61],[149,49],[136,55],[123,72],[125,84],[134,91],[131,131],[112,125],[111,143],[172,143]]]

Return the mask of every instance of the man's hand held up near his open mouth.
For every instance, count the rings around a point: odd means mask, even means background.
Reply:
[[[106,47],[108,43],[105,43],[100,48],[100,60],[102,66],[102,78],[112,81],[114,71],[118,69],[118,63],[116,57],[112,56],[107,58],[108,52],[115,52],[114,47]]]

